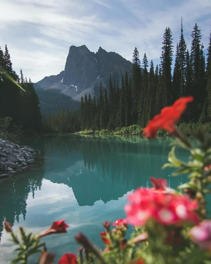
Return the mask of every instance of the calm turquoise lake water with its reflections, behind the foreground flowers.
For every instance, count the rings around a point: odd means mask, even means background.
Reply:
[[[55,263],[64,253],[77,252],[78,232],[102,247],[103,222],[124,218],[128,193],[151,186],[150,176],[167,179],[171,187],[185,181],[161,169],[170,150],[164,139],[67,135],[24,143],[42,154],[29,171],[0,183],[0,220],[14,230],[23,226],[38,233],[65,219],[67,234],[45,237],[48,251],[56,253]],[[9,237],[0,225],[0,263],[13,257]]]

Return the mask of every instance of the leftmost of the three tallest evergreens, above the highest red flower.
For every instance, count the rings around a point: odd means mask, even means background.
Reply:
[[[172,33],[170,28],[165,29],[161,53],[161,69],[164,80],[165,106],[171,104],[171,65],[173,56]]]

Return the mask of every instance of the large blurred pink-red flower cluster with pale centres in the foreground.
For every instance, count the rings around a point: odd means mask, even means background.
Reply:
[[[131,203],[126,204],[125,212],[128,222],[134,226],[144,226],[150,218],[164,225],[199,221],[194,212],[198,203],[184,195],[139,188],[129,195],[128,200]]]

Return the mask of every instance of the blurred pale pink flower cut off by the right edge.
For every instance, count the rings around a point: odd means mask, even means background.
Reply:
[[[190,230],[192,240],[204,249],[211,249],[211,220],[204,220]]]

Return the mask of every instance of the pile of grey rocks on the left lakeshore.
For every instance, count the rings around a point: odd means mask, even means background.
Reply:
[[[0,139],[0,178],[28,170],[28,166],[35,162],[37,154],[40,154],[40,150]]]

